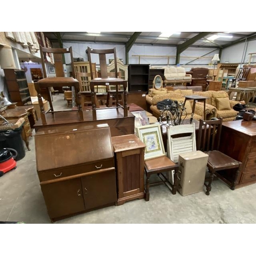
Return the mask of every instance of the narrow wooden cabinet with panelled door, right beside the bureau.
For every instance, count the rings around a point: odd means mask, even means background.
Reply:
[[[144,198],[145,145],[135,135],[112,137],[117,173],[117,205]]]

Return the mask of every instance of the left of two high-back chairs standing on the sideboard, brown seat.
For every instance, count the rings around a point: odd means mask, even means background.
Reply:
[[[65,77],[65,72],[63,70],[63,63],[65,63],[65,54],[70,55],[71,60],[71,77]],[[54,114],[55,112],[53,110],[52,100],[50,97],[50,89],[51,87],[74,87],[74,93],[75,93],[75,101],[77,105],[77,111],[79,113],[79,119],[83,120],[83,113],[81,108],[81,101],[80,101],[80,88],[79,88],[79,82],[75,78],[75,69],[74,69],[74,60],[73,60],[73,53],[72,53],[72,47],[70,48],[46,48],[40,46],[40,55],[41,55],[41,64],[42,64],[42,71],[44,74],[44,78],[38,80],[35,83],[35,89],[37,91],[37,97],[38,97],[38,103],[41,110],[41,120],[42,124],[47,124],[46,120],[46,114],[48,112]],[[48,77],[47,71],[46,71],[46,65],[45,62],[47,62],[47,57],[51,59],[51,62],[54,62],[55,67],[55,77]],[[50,109],[49,111],[45,112],[42,104],[41,99],[41,89],[47,88],[49,92],[49,103],[50,103]]]

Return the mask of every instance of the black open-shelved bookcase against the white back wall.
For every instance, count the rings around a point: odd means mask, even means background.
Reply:
[[[128,66],[128,91],[148,92],[150,65],[130,64]]]

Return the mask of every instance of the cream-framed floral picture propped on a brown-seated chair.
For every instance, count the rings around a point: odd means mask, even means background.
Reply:
[[[159,123],[136,127],[136,135],[146,145],[144,160],[165,156]]]

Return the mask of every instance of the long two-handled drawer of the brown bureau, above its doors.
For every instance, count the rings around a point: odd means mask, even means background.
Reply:
[[[54,170],[41,170],[37,172],[40,181],[60,179],[63,177],[73,176],[76,174],[83,174],[92,172],[94,170],[101,170],[105,168],[114,167],[114,158],[108,160],[98,161],[97,163],[79,164],[76,166],[65,166],[56,168]]]

